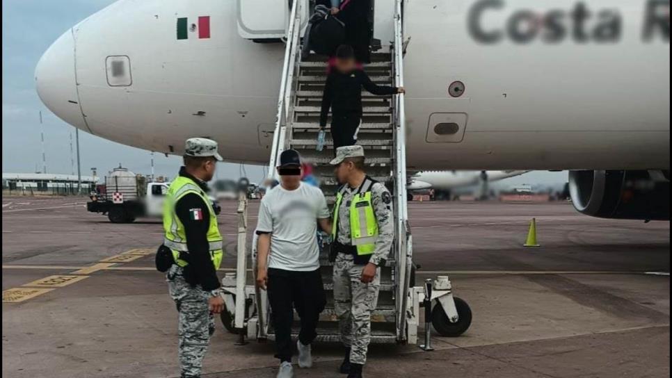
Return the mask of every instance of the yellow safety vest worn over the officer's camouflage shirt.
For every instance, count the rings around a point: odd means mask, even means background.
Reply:
[[[359,256],[373,254],[376,249],[376,240],[378,239],[378,222],[376,213],[371,203],[371,187],[374,181],[368,177],[360,186],[358,192],[355,192],[350,203],[350,235],[351,244],[357,247]],[[338,211],[343,200],[345,186],[336,194],[336,204],[334,206],[333,225],[331,236],[337,241]]]

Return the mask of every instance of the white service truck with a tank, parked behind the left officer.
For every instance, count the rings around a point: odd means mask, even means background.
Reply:
[[[112,223],[131,223],[138,217],[162,217],[163,199],[170,182],[147,181],[126,168],[118,167],[105,177],[105,194],[92,193],[86,209],[106,214]],[[216,214],[220,206],[213,199]]]

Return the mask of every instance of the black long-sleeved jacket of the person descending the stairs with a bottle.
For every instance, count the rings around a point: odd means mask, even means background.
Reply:
[[[322,94],[320,126],[326,126],[329,108],[333,114],[362,114],[362,87],[379,96],[397,93],[397,87],[376,85],[361,69],[343,74],[333,69]]]

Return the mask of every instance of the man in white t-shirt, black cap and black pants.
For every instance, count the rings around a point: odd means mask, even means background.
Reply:
[[[301,182],[301,158],[294,149],[280,154],[280,185],[266,193],[257,222],[257,285],[268,288],[273,313],[278,378],[293,377],[291,323],[301,318],[296,343],[298,365],[312,366],[310,343],[326,297],[317,245],[317,224],[330,231],[330,213],[319,188]],[[266,263],[268,261],[268,264]]]

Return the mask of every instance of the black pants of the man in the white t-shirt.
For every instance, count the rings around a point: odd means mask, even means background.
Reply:
[[[303,345],[312,343],[317,336],[315,329],[319,315],[326,304],[320,270],[297,272],[269,268],[269,302],[275,329],[275,354],[280,361],[290,361],[294,347],[291,343],[291,323],[294,310],[301,318],[298,340]]]

